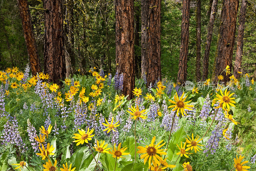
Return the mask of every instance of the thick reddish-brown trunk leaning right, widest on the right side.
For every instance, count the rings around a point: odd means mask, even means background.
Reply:
[[[213,66],[212,81],[216,83],[218,75],[229,65],[232,68],[232,55],[236,33],[236,17],[239,0],[224,0],[221,11],[219,38]],[[225,85],[230,74],[225,74],[223,80]]]

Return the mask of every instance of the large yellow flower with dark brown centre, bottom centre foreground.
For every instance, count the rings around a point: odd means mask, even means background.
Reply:
[[[161,140],[156,145],[154,144],[155,140],[156,140],[156,137],[154,136],[149,145],[146,145],[145,147],[142,147],[142,146],[137,147],[139,149],[137,151],[138,154],[145,153],[145,154],[142,154],[140,156],[140,159],[144,159],[144,164],[146,164],[146,162],[148,161],[149,166],[151,166],[152,158],[154,159],[156,164],[160,164],[159,160],[163,160],[161,155],[166,155],[167,154],[166,152],[163,152],[164,150],[167,150],[167,149],[159,149],[159,148],[161,148],[162,146],[165,145],[165,143],[160,145],[164,140]]]

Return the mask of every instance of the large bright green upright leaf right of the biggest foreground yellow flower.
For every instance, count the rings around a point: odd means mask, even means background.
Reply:
[[[186,131],[184,126],[180,127],[179,130],[177,130],[172,138],[169,141],[168,149],[167,149],[167,161],[168,163],[172,162],[172,164],[178,159],[179,155],[178,153],[179,148],[176,144],[180,145],[180,142],[185,142],[186,138]],[[179,160],[177,161],[179,163]],[[171,163],[170,163],[171,164]]]

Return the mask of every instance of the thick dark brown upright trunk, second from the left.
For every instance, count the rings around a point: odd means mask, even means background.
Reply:
[[[66,64],[61,0],[44,0],[44,72],[50,75],[49,81],[62,84]]]

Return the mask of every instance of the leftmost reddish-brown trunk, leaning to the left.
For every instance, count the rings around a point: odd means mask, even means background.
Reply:
[[[28,0],[18,0],[18,6],[20,10],[20,18],[28,50],[28,59],[31,66],[32,75],[36,75],[36,73],[39,73],[42,70],[36,47],[36,39],[32,30]]]

